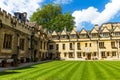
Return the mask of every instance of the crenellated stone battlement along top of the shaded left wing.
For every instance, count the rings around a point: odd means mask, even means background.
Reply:
[[[12,16],[10,13],[7,13],[7,11],[2,10],[1,8],[0,20],[2,24],[5,24],[24,33],[31,34],[32,28],[28,24],[22,23],[20,19],[16,18],[15,16]]]

